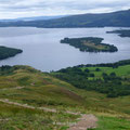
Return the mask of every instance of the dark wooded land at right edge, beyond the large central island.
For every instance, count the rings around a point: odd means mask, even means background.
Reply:
[[[113,30],[106,31],[107,34],[119,34],[120,37],[130,37],[130,29],[120,29],[120,30]]]

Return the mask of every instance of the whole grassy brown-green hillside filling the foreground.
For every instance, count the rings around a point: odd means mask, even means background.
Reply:
[[[98,130],[129,130],[129,95],[108,99],[106,94],[75,88],[29,66],[0,68],[1,130],[66,130],[80,117],[74,114],[77,112],[94,114]]]

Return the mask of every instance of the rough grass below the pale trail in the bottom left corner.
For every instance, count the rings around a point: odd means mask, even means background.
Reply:
[[[74,122],[78,116],[64,113],[46,113],[0,103],[0,130],[63,130],[67,122]],[[55,122],[64,122],[57,126]]]

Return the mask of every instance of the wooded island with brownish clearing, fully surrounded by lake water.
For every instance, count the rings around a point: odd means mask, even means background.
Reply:
[[[116,52],[118,49],[113,44],[102,43],[103,38],[64,38],[61,43],[68,43],[83,52]]]

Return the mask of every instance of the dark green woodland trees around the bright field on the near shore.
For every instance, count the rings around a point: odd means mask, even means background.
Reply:
[[[75,66],[61,69],[53,73],[53,75],[56,78],[72,83],[76,88],[105,93],[108,98],[117,98],[122,95],[130,95],[130,84],[123,83],[129,82],[129,77],[120,77],[115,73],[106,74],[98,67],[108,67],[109,65],[112,67],[116,65],[114,68],[112,68],[115,69],[117,65],[126,65],[128,63],[130,64],[130,61],[121,61],[115,64],[92,65],[94,67],[96,66],[94,72],[89,69],[90,65],[87,65],[89,66],[87,68],[83,66],[86,69],[83,69],[81,66]],[[95,72],[100,72],[102,76],[96,77]]]

